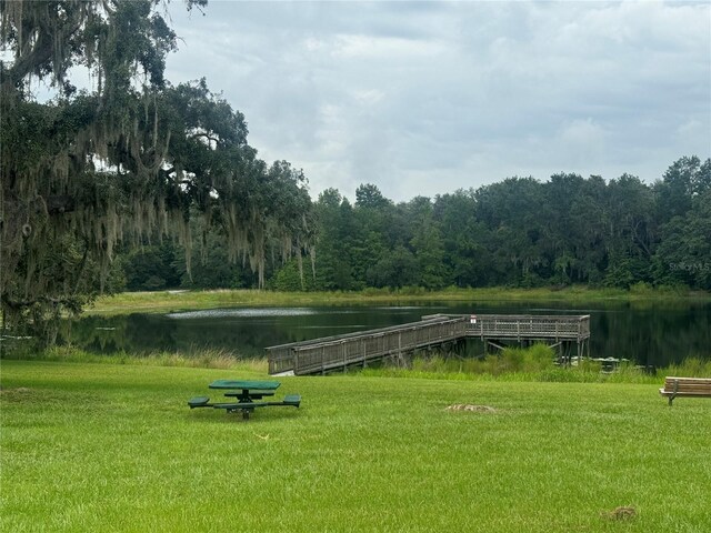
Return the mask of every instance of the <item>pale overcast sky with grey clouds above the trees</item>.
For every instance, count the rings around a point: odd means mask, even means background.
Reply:
[[[206,77],[316,200],[512,175],[648,182],[711,155],[711,3],[171,3],[173,83]]]

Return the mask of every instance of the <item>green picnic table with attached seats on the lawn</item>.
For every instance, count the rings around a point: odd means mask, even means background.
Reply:
[[[208,396],[197,396],[188,401],[190,409],[196,408],[214,408],[224,409],[228,413],[241,411],[242,418],[248,420],[250,414],[257,408],[267,408],[276,405],[291,405],[299,408],[301,395],[289,394],[281,402],[263,402],[264,396],[273,396],[274,391],[279,389],[279,381],[256,381],[256,380],[217,380],[210,383],[210,389],[228,391],[224,393],[227,398],[234,398],[231,402],[210,403]]]

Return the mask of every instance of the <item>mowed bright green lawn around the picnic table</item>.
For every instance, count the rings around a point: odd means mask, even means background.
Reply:
[[[281,378],[300,409],[188,409],[223,378],[267,376],[3,361],[2,531],[711,531],[711,401],[669,408],[663,376]]]

